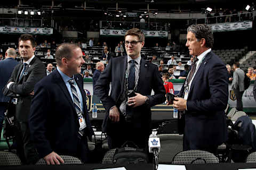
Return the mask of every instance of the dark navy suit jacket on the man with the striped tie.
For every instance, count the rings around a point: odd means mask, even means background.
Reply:
[[[86,135],[83,140],[87,141],[86,138],[89,137],[91,140],[94,133],[87,113],[82,76],[75,75],[75,81],[83,97],[83,113],[86,122]],[[36,84],[35,97],[30,109],[31,137],[35,141],[40,157],[52,151],[60,155],[78,156],[78,117],[73,100],[57,69]]]

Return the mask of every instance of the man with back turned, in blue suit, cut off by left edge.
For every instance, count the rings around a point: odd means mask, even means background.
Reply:
[[[16,50],[14,48],[9,48],[5,52],[5,60],[0,61],[0,137],[4,121],[4,112],[6,111],[7,101],[10,100],[10,97],[4,96],[2,89],[10,79],[14,67],[18,64],[15,60],[16,56]]]

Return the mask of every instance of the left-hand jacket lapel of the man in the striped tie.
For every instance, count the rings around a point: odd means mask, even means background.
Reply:
[[[63,93],[65,94],[66,98],[68,99],[69,101],[69,104],[73,107],[74,109],[74,112],[76,113],[75,111],[75,106],[74,106],[74,103],[73,103],[73,100],[68,92],[68,88],[65,84],[65,82],[63,81],[60,73],[58,72],[57,69],[55,69],[51,74],[54,73],[54,76],[53,76],[53,81],[55,81],[55,83],[58,84],[58,86],[61,88],[61,90],[63,91]]]

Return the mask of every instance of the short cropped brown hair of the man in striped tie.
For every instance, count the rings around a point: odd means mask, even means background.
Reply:
[[[75,43],[62,43],[55,52],[55,60],[58,65],[61,65],[61,60],[62,58],[67,58],[68,60],[71,59],[73,56],[73,50],[76,48],[80,48],[77,44]]]

